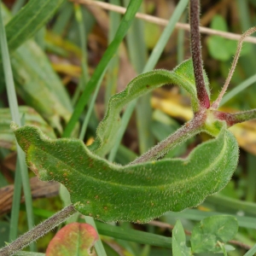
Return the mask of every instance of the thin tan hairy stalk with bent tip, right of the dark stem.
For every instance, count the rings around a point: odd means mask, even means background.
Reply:
[[[221,102],[221,100],[222,100],[222,98],[224,96],[224,93],[228,89],[228,86],[230,84],[230,80],[231,80],[231,78],[233,76],[233,73],[235,72],[236,64],[237,64],[237,61],[238,61],[240,53],[241,53],[242,43],[244,42],[245,38],[250,36],[253,32],[256,32],[256,26],[251,27],[250,29],[248,29],[246,32],[244,32],[241,35],[241,38],[240,38],[240,40],[237,43],[236,55],[234,56],[234,60],[232,62],[232,66],[230,68],[230,73],[229,73],[229,75],[228,75],[228,77],[227,77],[227,79],[225,81],[223,89],[221,90],[220,94],[218,95],[217,100],[215,102],[213,102],[212,108],[214,108],[214,109],[218,108],[219,102]]]

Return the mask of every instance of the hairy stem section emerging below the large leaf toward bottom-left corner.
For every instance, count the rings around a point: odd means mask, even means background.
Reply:
[[[57,225],[64,222],[68,217],[73,215],[75,212],[75,208],[73,205],[69,205],[65,207],[60,212],[55,213],[52,217],[44,220],[41,224],[38,224],[32,230],[29,230],[24,235],[20,236],[15,241],[11,242],[8,246],[0,249],[1,256],[9,256],[18,251],[20,251],[23,247],[28,246],[32,241],[38,240],[39,237],[44,236],[50,230],[54,229]]]

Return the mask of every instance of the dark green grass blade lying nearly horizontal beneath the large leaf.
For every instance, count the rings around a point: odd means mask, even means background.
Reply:
[[[172,248],[172,238],[159,236],[143,231],[120,228],[117,226],[96,222],[97,230],[104,236],[111,236],[126,241],[135,241],[156,247]]]

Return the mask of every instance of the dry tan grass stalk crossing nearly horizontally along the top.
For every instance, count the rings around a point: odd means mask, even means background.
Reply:
[[[126,11],[126,9],[124,7],[116,6],[116,5],[113,5],[110,3],[102,3],[102,2],[98,2],[98,1],[92,1],[92,0],[70,0],[70,1],[74,2],[74,3],[81,3],[81,4],[91,5],[91,6],[97,6],[102,9],[108,9],[108,10],[111,10],[114,12],[118,12],[120,14],[125,14],[125,11]],[[154,24],[157,24],[160,26],[166,26],[168,23],[168,20],[157,18],[152,15],[144,15],[142,13],[137,13],[136,17],[138,19],[146,20],[148,22],[151,22],[151,23],[154,23]],[[190,31],[189,24],[186,24],[186,23],[177,22],[176,28]],[[239,40],[241,38],[241,35],[236,34],[236,33],[222,32],[222,31],[214,30],[214,29],[207,28],[204,26],[200,26],[199,30],[201,33],[204,33],[207,35],[215,35],[215,36],[219,36],[222,38],[228,38],[231,40]],[[244,40],[244,42],[256,44],[256,38],[248,37]]]

